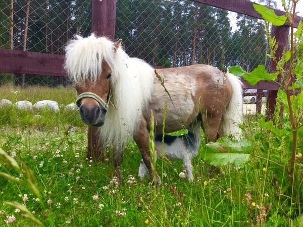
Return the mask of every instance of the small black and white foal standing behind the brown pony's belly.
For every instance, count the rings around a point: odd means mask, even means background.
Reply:
[[[202,123],[201,115],[197,116],[196,121],[193,121],[188,127],[188,134],[181,136],[170,136],[156,134],[155,135],[155,148],[157,151],[157,156],[163,154],[170,159],[182,159],[183,166],[187,173],[188,181],[193,180],[192,174],[192,164],[191,159],[198,155],[201,137],[200,137],[200,128]],[[143,159],[141,159],[139,166],[139,177],[141,180],[147,175],[147,168],[144,164]]]

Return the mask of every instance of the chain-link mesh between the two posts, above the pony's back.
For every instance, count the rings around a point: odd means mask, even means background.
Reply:
[[[265,63],[262,20],[193,1],[117,1],[116,37],[154,66],[208,64],[250,71]]]

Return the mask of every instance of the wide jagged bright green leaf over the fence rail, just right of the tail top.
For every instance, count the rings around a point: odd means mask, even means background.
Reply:
[[[251,73],[243,74],[243,79],[246,80],[251,86],[255,86],[260,80],[275,81],[279,73],[267,73],[265,66],[259,65]]]

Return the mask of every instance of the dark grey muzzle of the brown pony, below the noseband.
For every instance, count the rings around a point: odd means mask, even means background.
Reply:
[[[87,105],[80,105],[79,112],[82,121],[86,125],[94,127],[101,127],[104,125],[106,109],[102,106],[93,105],[88,107]]]

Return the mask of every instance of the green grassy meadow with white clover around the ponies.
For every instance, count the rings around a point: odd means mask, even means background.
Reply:
[[[66,105],[74,95],[72,87],[0,88],[0,97],[13,102],[51,99]],[[181,160],[161,158],[157,189],[138,177],[141,156],[133,141],[124,147],[122,185],[112,179],[110,144],[103,160],[88,161],[87,127],[77,111],[0,108],[0,225],[303,226],[303,145],[297,147],[292,188],[285,171],[291,154],[287,134],[270,133],[265,118],[246,116],[241,126],[253,144],[247,162],[210,167],[201,132],[192,161],[195,180],[180,174]]]

